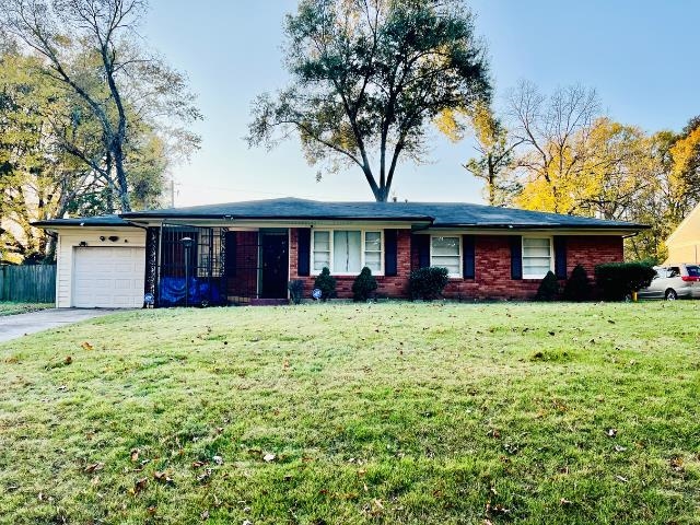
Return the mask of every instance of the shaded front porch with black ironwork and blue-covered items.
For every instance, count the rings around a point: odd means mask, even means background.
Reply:
[[[149,228],[145,277],[159,307],[287,302],[289,229]]]

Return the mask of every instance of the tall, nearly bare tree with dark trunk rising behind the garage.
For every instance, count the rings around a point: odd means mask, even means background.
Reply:
[[[75,118],[92,119],[102,148],[63,137],[63,148],[107,183],[109,208],[129,211],[130,127],[167,129],[200,118],[186,79],[144,50],[137,33],[143,0],[0,0],[0,24],[45,61],[40,70],[73,100]],[[156,124],[158,122],[158,124]],[[198,138],[179,129],[196,147]]]

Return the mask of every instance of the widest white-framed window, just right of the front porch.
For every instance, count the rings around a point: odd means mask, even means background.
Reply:
[[[314,230],[312,248],[314,273],[320,273],[324,267],[336,275],[358,275],[365,266],[374,275],[384,271],[382,232]]]

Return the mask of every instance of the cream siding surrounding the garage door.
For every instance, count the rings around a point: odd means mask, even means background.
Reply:
[[[80,243],[90,247],[128,248],[145,247],[145,231],[139,228],[63,228],[58,229],[58,245],[56,248],[56,306],[69,308],[73,306],[73,255]],[[102,241],[100,237],[105,237]],[[109,241],[109,236],[119,237]],[[145,276],[140,276],[144,280]],[[143,287],[141,287],[142,289]]]

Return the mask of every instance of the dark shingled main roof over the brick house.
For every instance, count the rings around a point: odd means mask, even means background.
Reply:
[[[295,198],[194,206],[137,211],[121,215],[138,219],[231,219],[231,220],[377,220],[424,222],[433,228],[552,228],[623,229],[648,228],[622,221],[542,213],[466,202],[320,202]]]

